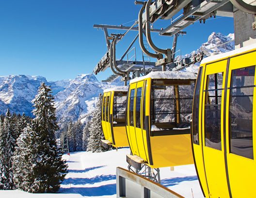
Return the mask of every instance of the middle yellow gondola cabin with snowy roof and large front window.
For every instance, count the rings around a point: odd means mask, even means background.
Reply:
[[[127,136],[136,158],[151,168],[192,164],[190,120],[196,74],[155,71],[130,81]],[[136,168],[140,169],[140,168]]]

